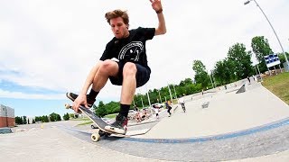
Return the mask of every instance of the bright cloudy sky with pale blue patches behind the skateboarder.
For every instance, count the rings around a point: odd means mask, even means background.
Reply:
[[[282,52],[255,2],[245,1],[163,0],[167,33],[147,41],[152,74],[135,93],[192,79],[195,59],[210,71],[234,44],[252,50],[255,36],[265,36],[274,52]],[[288,51],[289,1],[257,3]],[[79,93],[113,38],[104,15],[114,9],[128,12],[130,29],[158,25],[149,0],[0,0],[0,103],[14,108],[15,116],[72,112],[64,109],[70,103],[65,93]],[[108,81],[97,102],[119,101],[120,90]]]

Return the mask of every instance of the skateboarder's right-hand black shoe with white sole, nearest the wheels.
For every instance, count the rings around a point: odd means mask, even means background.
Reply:
[[[105,127],[105,130],[117,134],[126,134],[126,129],[127,129],[127,118],[120,114],[117,115],[115,122]]]

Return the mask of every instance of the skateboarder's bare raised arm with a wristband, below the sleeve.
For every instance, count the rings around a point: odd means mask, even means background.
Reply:
[[[163,6],[161,0],[150,0],[152,3],[152,7],[157,14],[157,18],[159,20],[159,25],[155,28],[154,35],[162,35],[166,32],[165,21],[163,17]]]

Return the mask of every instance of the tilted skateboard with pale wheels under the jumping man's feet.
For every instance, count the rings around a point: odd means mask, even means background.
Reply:
[[[71,105],[69,103],[65,103],[66,109],[72,109]],[[93,121],[98,126],[98,132],[93,132],[90,136],[92,141],[97,142],[100,137],[105,136],[114,136],[114,137],[130,137],[130,135],[124,135],[124,134],[117,134],[108,130],[105,130],[105,127],[108,125],[106,121],[103,121],[101,118],[98,117],[94,112],[89,111],[88,108],[80,105],[79,106],[79,112],[85,114],[90,121]]]

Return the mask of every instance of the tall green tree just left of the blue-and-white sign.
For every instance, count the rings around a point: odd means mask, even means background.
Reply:
[[[270,48],[268,40],[265,39],[264,36],[256,36],[252,39],[251,47],[253,52],[256,54],[256,59],[260,64],[259,68],[261,72],[266,71],[267,67],[264,56],[274,53]]]

